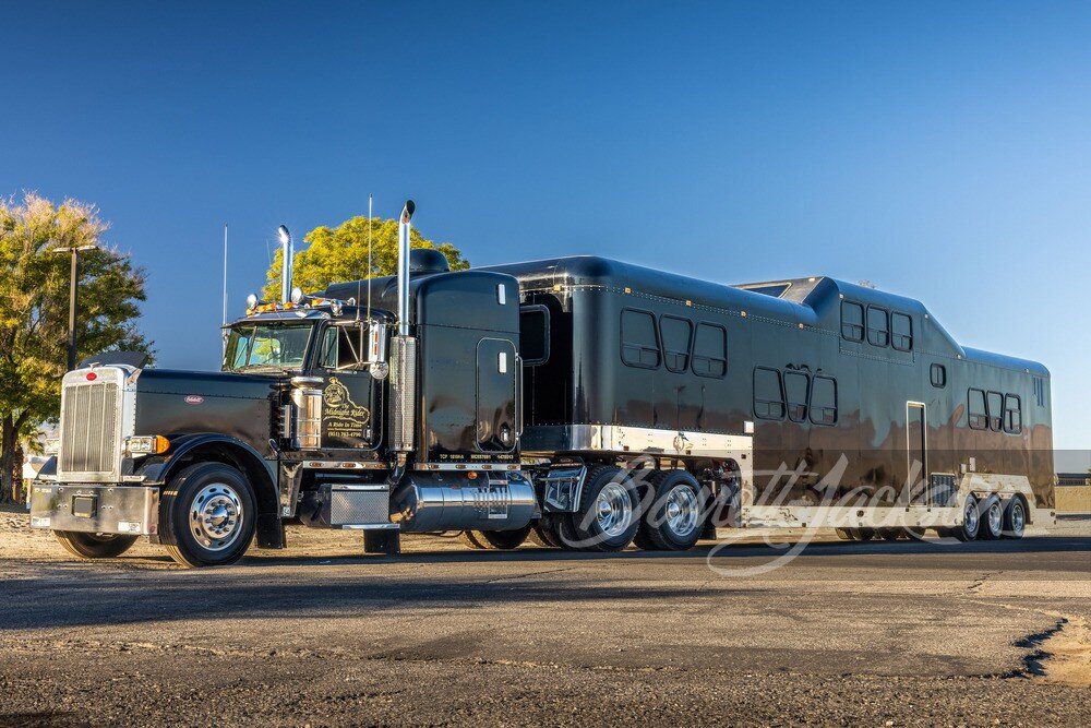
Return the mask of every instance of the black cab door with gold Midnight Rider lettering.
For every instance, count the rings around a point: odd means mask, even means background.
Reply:
[[[367,360],[365,345],[362,324],[323,330],[319,350],[323,450],[372,450],[379,444],[379,387],[360,366]]]

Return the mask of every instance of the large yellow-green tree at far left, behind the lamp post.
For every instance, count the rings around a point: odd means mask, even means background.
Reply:
[[[69,265],[57,248],[99,244],[108,226],[94,205],[27,193],[0,199],[0,501],[21,501],[13,474],[24,442],[60,414],[68,346]],[[80,253],[80,358],[151,351],[136,327],[144,271],[109,248]]]

